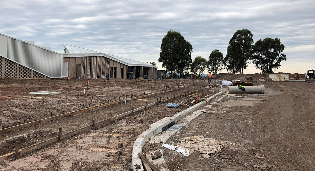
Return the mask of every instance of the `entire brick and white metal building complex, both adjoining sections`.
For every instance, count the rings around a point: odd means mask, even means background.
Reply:
[[[157,77],[157,67],[148,63],[66,44],[64,52],[0,33],[0,78]]]

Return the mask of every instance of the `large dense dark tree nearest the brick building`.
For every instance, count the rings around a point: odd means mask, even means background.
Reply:
[[[161,44],[159,62],[166,68],[171,77],[175,71],[180,72],[180,76],[189,68],[192,45],[184,39],[180,32],[169,30],[164,36]]]

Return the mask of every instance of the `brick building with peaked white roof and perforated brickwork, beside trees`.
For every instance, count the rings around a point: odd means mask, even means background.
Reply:
[[[73,78],[138,78],[156,79],[157,67],[119,56],[109,55],[64,44],[63,61],[68,65],[68,77]]]

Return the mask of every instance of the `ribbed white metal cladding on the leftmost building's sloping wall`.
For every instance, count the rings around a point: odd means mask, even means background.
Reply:
[[[7,58],[50,78],[62,76],[61,54],[11,37],[8,37]]]

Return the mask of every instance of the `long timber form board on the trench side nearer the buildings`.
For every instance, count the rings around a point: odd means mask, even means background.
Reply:
[[[152,94],[147,94],[147,95],[133,97],[133,98],[128,98],[128,99],[120,99],[120,100],[112,101],[112,102],[109,102],[109,103],[100,104],[100,105],[92,106],[92,107],[89,107],[89,108],[76,110],[76,111],[68,112],[68,113],[61,114],[61,115],[52,116],[52,117],[41,119],[41,120],[35,120],[35,121],[32,121],[32,122],[28,122],[28,123],[25,123],[25,124],[20,124],[20,125],[17,125],[17,126],[11,126],[11,127],[8,127],[8,128],[1,129],[0,133],[17,130],[17,129],[24,128],[24,127],[27,127],[27,126],[37,125],[37,124],[40,124],[40,123],[43,123],[43,122],[47,122],[47,121],[50,121],[50,120],[55,120],[55,119],[59,119],[59,118],[62,118],[62,117],[69,116],[69,115],[74,115],[74,114],[77,114],[77,113],[85,112],[85,111],[88,111],[88,110],[97,109],[97,108],[108,106],[108,105],[111,105],[111,104],[120,103],[120,102],[123,102],[125,100],[129,101],[129,100],[141,99],[141,98],[145,98],[145,97],[148,97],[148,96],[153,96],[153,95],[157,95],[157,94],[163,94],[163,93],[166,93],[166,92],[171,92],[171,91],[174,91],[174,90],[179,90],[179,89],[187,88],[187,87],[181,87],[181,88],[176,88],[176,89],[172,89],[172,90],[161,91],[161,92],[158,92],[158,93],[152,93]]]

